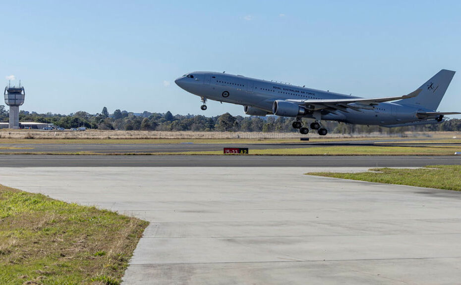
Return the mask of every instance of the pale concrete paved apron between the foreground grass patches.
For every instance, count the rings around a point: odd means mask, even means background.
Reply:
[[[329,170],[366,169],[0,168],[0,184],[149,221],[123,285],[460,284],[461,192],[303,175]]]

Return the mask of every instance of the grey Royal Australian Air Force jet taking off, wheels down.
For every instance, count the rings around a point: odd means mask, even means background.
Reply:
[[[437,124],[445,115],[461,114],[436,111],[454,75],[455,71],[443,69],[408,95],[381,98],[360,98],[217,72],[192,72],[174,82],[200,96],[202,110],[207,109],[210,99],[243,105],[247,115],[293,117],[292,126],[301,134],[309,133],[301,118],[311,118],[314,121],[310,128],[325,136],[328,131],[322,120],[391,128]]]

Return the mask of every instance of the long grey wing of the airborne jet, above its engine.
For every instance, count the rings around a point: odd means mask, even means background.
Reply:
[[[315,99],[315,100],[300,100],[300,99],[288,99],[288,102],[295,102],[298,104],[305,105],[310,110],[322,110],[322,109],[336,109],[346,111],[347,108],[351,108],[359,111],[360,109],[373,109],[374,105],[378,105],[382,102],[395,101],[405,98],[412,98],[419,95],[422,89],[417,89],[408,95],[399,97],[381,97],[381,98],[341,98],[341,99]]]

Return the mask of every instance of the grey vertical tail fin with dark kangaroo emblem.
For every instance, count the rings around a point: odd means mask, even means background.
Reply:
[[[426,83],[421,85],[421,93],[413,98],[402,99],[396,103],[419,106],[429,110],[437,110],[443,95],[452,81],[455,71],[442,69]]]

